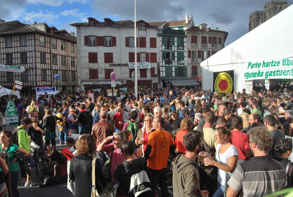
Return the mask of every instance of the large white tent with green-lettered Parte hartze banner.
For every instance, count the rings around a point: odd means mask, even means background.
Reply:
[[[254,79],[293,78],[293,5],[203,61],[202,88],[212,89],[214,72],[234,71],[234,91]],[[228,82],[229,83],[229,82]],[[248,92],[247,91],[247,92]]]

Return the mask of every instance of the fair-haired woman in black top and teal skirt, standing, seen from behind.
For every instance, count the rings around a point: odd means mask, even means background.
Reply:
[[[51,155],[51,150],[50,150],[50,140],[52,143],[52,152],[55,151],[56,149],[56,123],[62,122],[63,119],[53,116],[52,111],[48,109],[46,111],[46,118],[45,118],[45,132],[46,132],[46,137],[45,137],[45,142],[46,142],[46,148],[48,150],[49,155]]]

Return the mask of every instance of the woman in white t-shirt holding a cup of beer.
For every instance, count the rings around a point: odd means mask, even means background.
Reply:
[[[218,189],[214,193],[213,197],[224,196],[225,190],[228,186],[226,179],[226,173],[231,175],[238,160],[238,150],[234,145],[229,142],[229,138],[232,137],[232,132],[226,127],[218,127],[215,131],[216,141],[218,143],[216,147],[216,154],[212,157],[207,152],[201,151],[200,154],[205,154],[208,159],[204,160],[205,166],[216,166],[218,168]]]

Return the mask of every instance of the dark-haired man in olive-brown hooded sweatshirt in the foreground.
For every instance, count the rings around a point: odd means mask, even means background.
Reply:
[[[174,158],[173,164],[173,195],[202,196],[208,191],[200,191],[200,179],[195,162],[197,153],[202,151],[202,133],[189,131],[183,137],[186,153]],[[176,183],[176,184],[175,184]]]

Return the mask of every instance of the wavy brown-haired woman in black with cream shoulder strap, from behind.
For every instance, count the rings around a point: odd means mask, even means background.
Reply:
[[[91,196],[92,190],[92,161],[91,156],[96,151],[96,139],[91,134],[83,134],[76,142],[79,155],[73,157],[70,162],[69,179],[75,180],[75,197]],[[101,164],[96,159],[96,188],[100,193],[101,187],[106,186],[106,180],[102,172]],[[100,183],[100,184],[98,184]]]

